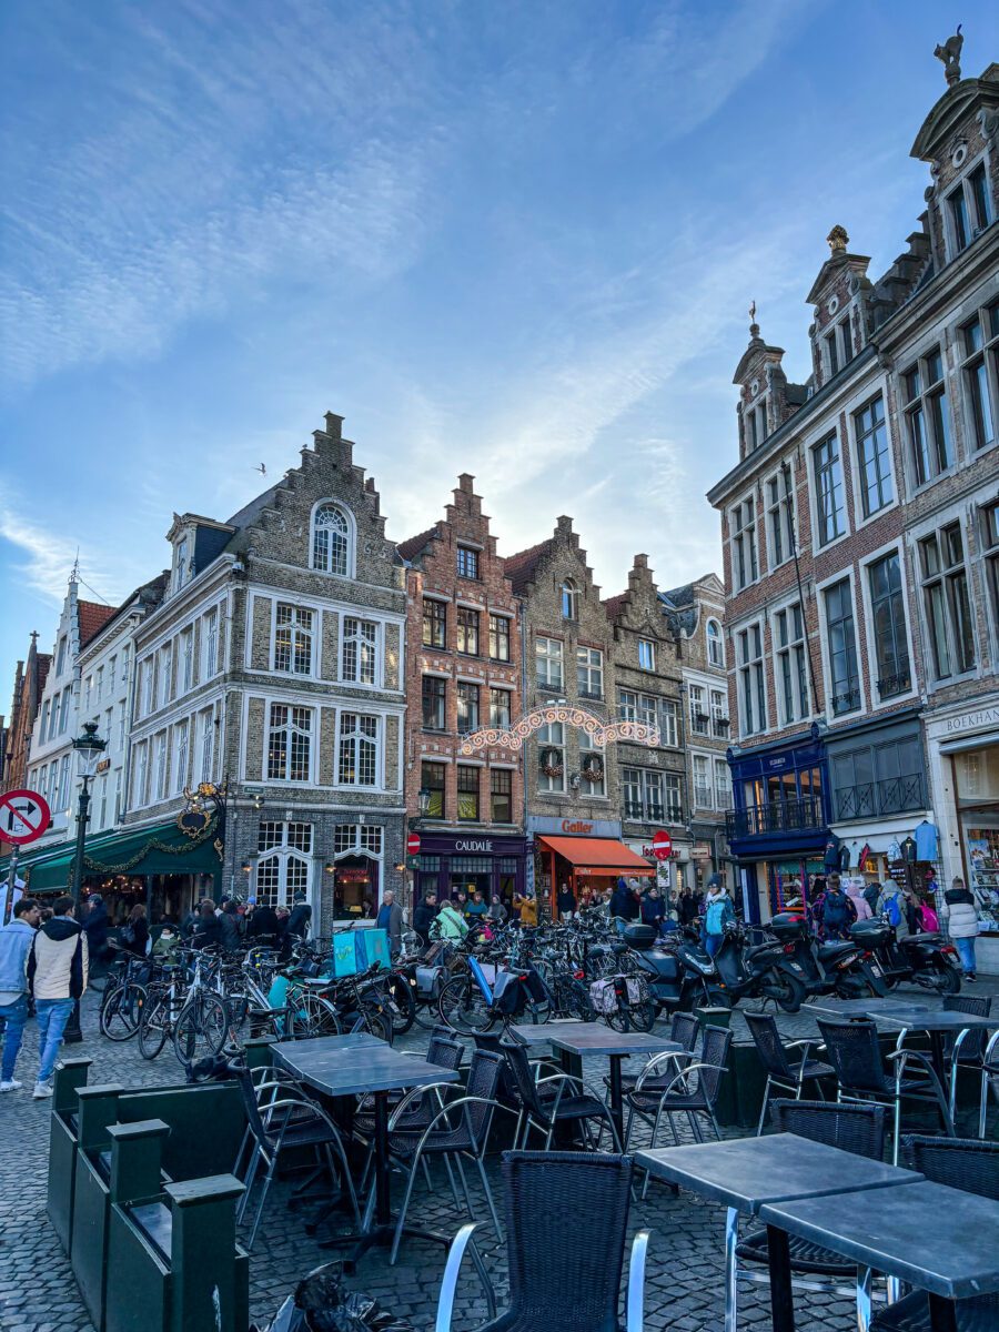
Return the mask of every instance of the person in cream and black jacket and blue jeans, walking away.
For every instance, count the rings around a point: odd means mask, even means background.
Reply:
[[[63,1032],[73,1004],[87,990],[87,935],[76,923],[71,896],[52,903],[52,919],[41,926],[28,955],[28,988],[39,1016],[39,1076],[35,1099],[52,1095],[52,1074],[63,1044]]]

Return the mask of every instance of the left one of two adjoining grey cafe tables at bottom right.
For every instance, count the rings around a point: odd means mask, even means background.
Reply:
[[[727,1207],[725,1223],[725,1329],[735,1329],[735,1245],[739,1213],[755,1216],[769,1203],[822,1197],[844,1189],[915,1187],[915,1171],[884,1166],[797,1134],[735,1138],[723,1143],[654,1147],[634,1154],[654,1179],[681,1184]],[[899,1189],[900,1192],[900,1189]]]

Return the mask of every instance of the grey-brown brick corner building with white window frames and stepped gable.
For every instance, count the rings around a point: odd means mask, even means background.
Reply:
[[[129,822],[226,783],[224,891],[318,932],[400,887],[405,591],[342,418],[228,522],[174,515],[170,587],[137,638]]]

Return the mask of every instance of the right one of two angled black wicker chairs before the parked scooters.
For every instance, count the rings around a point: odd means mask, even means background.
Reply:
[[[954,1120],[947,1104],[947,1094],[934,1071],[928,1055],[919,1050],[892,1050],[887,1056],[892,1072],[884,1071],[878,1028],[870,1020],[822,1022],[818,1028],[826,1043],[826,1054],[832,1064],[839,1090],[838,1102],[875,1102],[891,1106],[894,1130],[891,1135],[891,1163],[898,1166],[902,1102],[918,1100],[935,1106],[944,1132],[954,1138]],[[915,1076],[907,1076],[910,1064],[916,1066]]]

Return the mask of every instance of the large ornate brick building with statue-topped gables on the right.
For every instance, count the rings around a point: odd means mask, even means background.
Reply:
[[[875,278],[834,226],[807,381],[755,318],[735,372],[739,461],[709,498],[753,916],[826,862],[916,887],[999,866],[998,132],[999,67],[948,68],[907,248]]]

